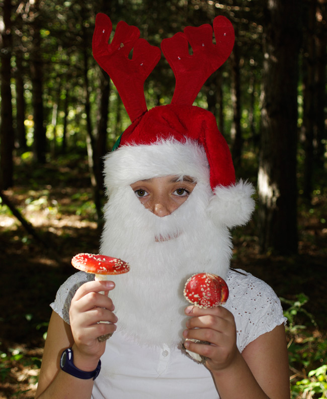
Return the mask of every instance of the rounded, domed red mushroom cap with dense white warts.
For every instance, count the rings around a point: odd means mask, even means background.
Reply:
[[[217,308],[228,298],[226,281],[211,273],[198,273],[190,277],[185,284],[184,296],[191,304],[199,308]]]

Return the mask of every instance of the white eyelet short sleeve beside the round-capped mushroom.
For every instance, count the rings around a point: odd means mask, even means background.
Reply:
[[[264,281],[242,270],[231,270],[227,285],[226,308],[234,315],[240,352],[260,335],[286,323],[278,296]]]

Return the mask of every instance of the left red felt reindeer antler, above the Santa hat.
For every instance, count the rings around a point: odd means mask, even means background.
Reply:
[[[93,34],[93,56],[114,82],[125,109],[133,122],[147,111],[144,97],[144,82],[160,59],[160,49],[139,39],[140,31],[123,21],[117,24],[112,43],[110,18],[98,14]],[[132,48],[133,57],[128,58]]]

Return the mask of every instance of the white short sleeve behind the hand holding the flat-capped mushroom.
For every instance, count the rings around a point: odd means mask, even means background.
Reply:
[[[60,286],[57,291],[56,298],[50,307],[56,312],[64,322],[69,322],[70,303],[77,289],[87,281],[94,280],[94,275],[79,271],[70,277]]]

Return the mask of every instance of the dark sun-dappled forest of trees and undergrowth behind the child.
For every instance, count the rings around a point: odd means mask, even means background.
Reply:
[[[233,52],[195,101],[215,114],[236,176],[257,187],[254,220],[232,232],[232,265],[282,299],[292,398],[327,397],[326,0],[0,6],[0,398],[33,397],[48,304],[71,257],[98,252],[101,159],[130,124],[92,56],[99,12],[156,46],[217,15],[233,23]],[[145,82],[148,108],[169,104],[174,87],[162,57]]]

